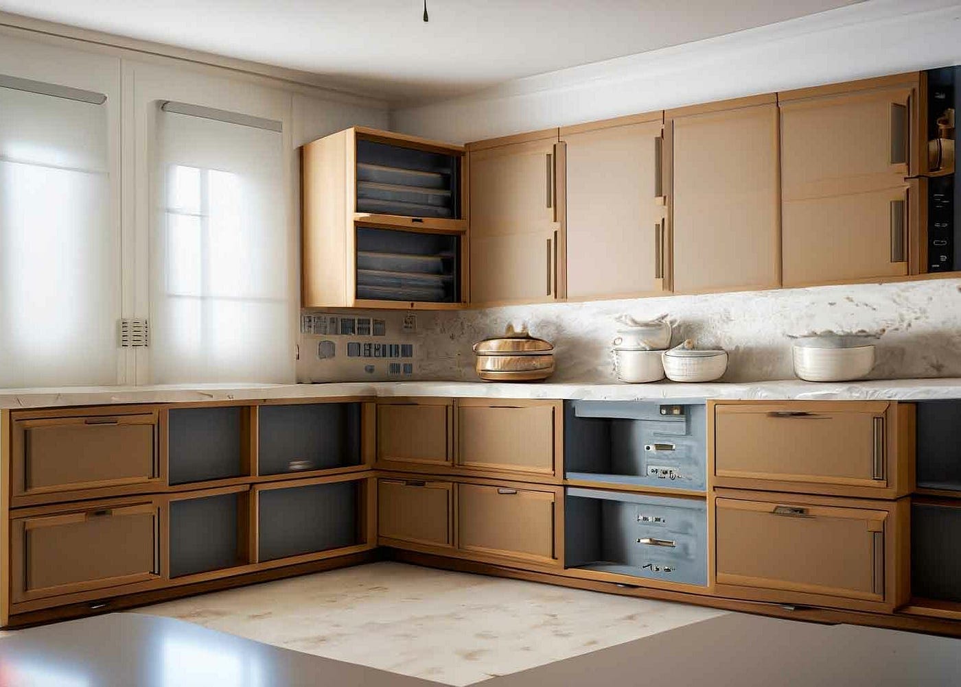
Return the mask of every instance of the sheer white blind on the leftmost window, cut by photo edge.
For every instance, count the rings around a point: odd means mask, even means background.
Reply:
[[[116,384],[107,109],[0,87],[0,387]]]

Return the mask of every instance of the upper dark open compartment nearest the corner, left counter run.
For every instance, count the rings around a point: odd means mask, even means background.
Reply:
[[[259,407],[258,474],[359,465],[360,403]]]

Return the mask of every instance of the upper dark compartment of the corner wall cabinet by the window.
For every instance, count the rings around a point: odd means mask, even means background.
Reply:
[[[357,212],[460,219],[460,155],[357,137]]]

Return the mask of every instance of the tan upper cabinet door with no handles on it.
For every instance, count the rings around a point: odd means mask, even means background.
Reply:
[[[674,290],[780,284],[774,95],[665,112]]]

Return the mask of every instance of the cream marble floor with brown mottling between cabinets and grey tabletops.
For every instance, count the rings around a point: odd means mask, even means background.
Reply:
[[[382,562],[137,609],[450,685],[723,611]]]

